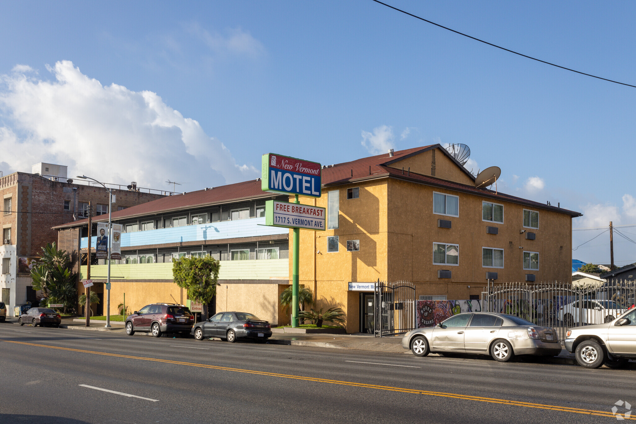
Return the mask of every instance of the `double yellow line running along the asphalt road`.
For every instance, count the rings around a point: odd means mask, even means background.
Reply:
[[[13,341],[13,340],[4,340],[4,339],[0,339],[0,341],[6,341],[7,343],[17,343],[18,345],[36,346],[36,347],[41,347],[41,348],[51,348],[51,349],[58,349],[58,350],[67,350],[69,352],[92,353],[93,355],[104,355],[104,356],[111,356],[111,357],[118,357],[118,358],[127,358],[127,359],[150,360],[150,361],[153,361],[153,362],[163,362],[164,364],[175,364],[175,365],[184,365],[184,366],[190,366],[190,367],[201,367],[201,368],[209,368],[209,369],[218,369],[220,371],[233,371],[235,373],[257,374],[257,375],[261,375],[261,376],[279,377],[279,378],[293,378],[294,380],[315,381],[317,383],[331,383],[331,384],[338,384],[338,385],[344,385],[344,386],[375,388],[377,390],[389,390],[391,392],[402,392],[402,393],[413,393],[413,394],[416,394],[416,395],[450,397],[452,399],[476,400],[477,402],[489,402],[489,403],[493,403],[493,404],[502,404],[502,405],[511,405],[511,406],[523,406],[523,407],[538,408],[538,409],[550,409],[551,411],[562,411],[562,412],[568,412],[568,413],[586,414],[586,415],[604,416],[604,417],[607,417],[607,418],[615,418],[615,416],[611,412],[595,411],[593,409],[581,409],[581,408],[573,408],[573,407],[567,407],[567,406],[534,404],[534,403],[531,403],[531,402],[520,402],[518,400],[495,399],[495,398],[491,398],[491,397],[460,395],[458,393],[431,392],[429,390],[417,390],[417,389],[410,389],[410,388],[403,388],[403,387],[379,386],[379,385],[372,385],[372,384],[366,384],[366,383],[354,383],[353,381],[329,380],[328,378],[315,378],[315,377],[293,376],[293,375],[289,375],[289,374],[267,373],[265,371],[254,371],[254,370],[251,370],[251,369],[219,367],[219,366],[216,366],[216,365],[205,365],[205,364],[193,364],[192,362],[181,362],[181,361],[178,361],[178,360],[168,360],[168,359],[158,359],[158,358],[144,358],[144,357],[131,356],[131,355],[121,355],[119,353],[94,352],[92,350],[81,350],[81,349],[72,349],[72,348],[62,348],[62,347],[59,347],[59,346],[38,345],[36,343],[25,343],[24,341]],[[627,420],[636,420],[636,417],[627,418]]]

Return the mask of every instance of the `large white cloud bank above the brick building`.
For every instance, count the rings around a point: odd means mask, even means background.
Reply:
[[[0,151],[10,170],[45,161],[68,165],[71,177],[158,189],[170,179],[190,182],[186,191],[258,177],[156,93],[102,86],[69,61],[51,71],[55,81],[0,77]]]

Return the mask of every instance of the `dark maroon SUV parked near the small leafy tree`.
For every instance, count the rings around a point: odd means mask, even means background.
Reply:
[[[183,304],[152,303],[126,318],[126,334],[132,336],[135,331],[152,332],[155,337],[161,337],[164,332],[188,334],[194,319]]]

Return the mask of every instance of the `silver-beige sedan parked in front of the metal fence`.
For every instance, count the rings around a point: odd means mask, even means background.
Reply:
[[[555,356],[561,352],[556,332],[514,315],[460,313],[434,327],[404,334],[402,347],[416,356],[430,352],[478,353],[507,362],[515,355]]]

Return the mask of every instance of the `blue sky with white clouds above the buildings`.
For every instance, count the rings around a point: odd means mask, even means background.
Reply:
[[[636,85],[635,3],[391,4]],[[0,39],[5,173],[63,161],[106,181],[191,191],[258,177],[268,151],[331,164],[465,143],[469,168],[502,168],[500,190],[584,212],[575,228],[636,224],[636,88],[370,0],[4,2]],[[575,231],[574,246],[597,234]],[[605,233],[574,257],[608,263],[607,243]],[[618,237],[617,263],[636,261],[635,247]]]

